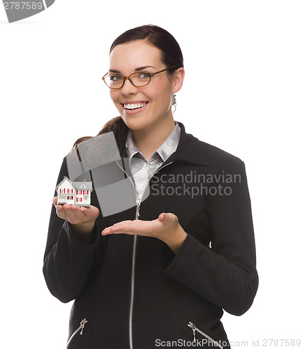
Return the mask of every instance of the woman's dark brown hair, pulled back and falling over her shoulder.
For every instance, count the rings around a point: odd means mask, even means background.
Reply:
[[[183,68],[183,54],[181,52],[181,47],[179,47],[179,44],[175,40],[174,36],[169,34],[169,32],[165,29],[157,27],[153,24],[143,25],[141,27],[136,27],[125,31],[114,40],[110,47],[110,53],[116,45],[130,43],[131,41],[135,40],[148,40],[149,43],[160,49],[162,52],[163,63],[167,67],[176,66],[176,68],[167,70],[168,74],[174,73],[174,71],[178,68]],[[176,104],[175,96],[173,96],[173,104]],[[128,126],[121,117],[114,117],[108,121],[105,126],[103,126],[98,135],[113,131],[119,151],[121,152],[126,142],[128,130]],[[73,149],[77,148],[77,144],[80,144],[89,138],[91,137],[79,138],[75,144],[73,144]]]

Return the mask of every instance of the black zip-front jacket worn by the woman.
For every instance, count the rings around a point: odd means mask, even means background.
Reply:
[[[52,209],[43,273],[54,297],[75,299],[70,349],[188,346],[194,340],[189,322],[197,327],[197,347],[213,348],[213,340],[225,348],[222,309],[241,315],[253,302],[258,276],[244,163],[179,126],[179,146],[151,178],[150,195],[139,209],[142,220],[162,212],[179,218],[188,236],[176,255],[156,238],[137,236],[133,254],[133,236],[100,235],[107,226],[135,219],[136,207],[100,214],[90,244],[80,242]],[[116,171],[122,171],[118,165]],[[63,175],[66,158],[58,183]],[[96,195],[91,200],[98,207]]]

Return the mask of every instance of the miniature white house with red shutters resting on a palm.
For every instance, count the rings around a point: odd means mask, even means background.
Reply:
[[[92,192],[92,181],[70,181],[68,177],[64,177],[58,186],[58,205],[78,205],[90,206],[90,198]]]

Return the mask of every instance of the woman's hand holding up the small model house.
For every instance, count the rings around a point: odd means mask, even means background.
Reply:
[[[57,205],[58,198],[52,200],[56,207],[56,214],[72,225],[73,232],[82,242],[88,244],[91,239],[96,218],[100,214],[97,207],[80,207],[77,205]]]

